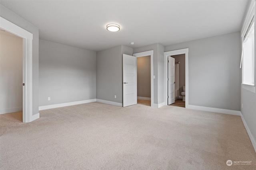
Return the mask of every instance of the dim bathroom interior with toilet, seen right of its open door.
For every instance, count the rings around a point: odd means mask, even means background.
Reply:
[[[174,58],[175,66],[174,66],[174,103],[170,104],[170,106],[179,106],[179,107],[185,107],[186,99],[185,99],[185,54],[179,54],[179,55],[172,55],[172,58]]]

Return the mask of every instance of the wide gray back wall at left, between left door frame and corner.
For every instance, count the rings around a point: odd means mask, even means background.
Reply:
[[[39,106],[96,99],[96,52],[39,40],[39,56]]]

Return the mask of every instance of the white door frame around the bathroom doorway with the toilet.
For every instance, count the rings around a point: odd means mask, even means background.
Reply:
[[[174,51],[167,51],[164,52],[164,105],[168,105],[167,101],[167,92],[168,92],[168,86],[167,86],[167,80],[168,80],[168,56],[172,55],[179,55],[179,54],[185,54],[185,84],[186,84],[186,95],[185,95],[185,107],[188,108],[188,48],[186,49],[180,49],[180,50],[174,50]]]

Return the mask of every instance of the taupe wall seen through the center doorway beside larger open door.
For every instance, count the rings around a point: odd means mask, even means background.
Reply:
[[[137,90],[138,96],[151,97],[150,56],[137,58]]]

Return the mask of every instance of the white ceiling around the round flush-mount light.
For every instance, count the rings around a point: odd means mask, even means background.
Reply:
[[[93,51],[117,45],[166,46],[240,31],[248,6],[247,0],[0,3],[38,27],[40,39]],[[117,23],[120,31],[107,31],[108,23]]]

